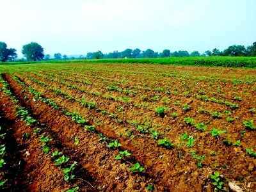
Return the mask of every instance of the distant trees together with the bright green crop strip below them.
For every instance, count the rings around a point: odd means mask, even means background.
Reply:
[[[205,51],[200,54],[198,51],[193,51],[189,54],[188,51],[174,51],[164,49],[163,52],[154,52],[152,49],[141,51],[140,49],[125,49],[125,51],[113,51],[108,54],[103,54],[101,51],[88,52],[86,56],[79,56],[78,58],[61,55],[60,52],[54,54],[54,58],[50,54],[44,55],[44,48],[35,43],[23,45],[22,54],[26,57],[17,60],[15,49],[7,49],[4,42],[0,42],[0,61],[58,61],[58,60],[95,60],[93,62],[118,62],[118,63],[158,63],[158,64],[172,64],[172,65],[199,65],[199,66],[222,66],[222,67],[255,67],[255,59],[244,59],[244,57],[256,56],[256,42],[248,47],[244,45],[231,45],[224,51],[219,49],[212,49],[212,51]],[[214,57],[213,57],[214,56]],[[211,59],[208,59],[211,58]],[[230,57],[230,58],[227,58]],[[234,60],[232,57],[236,57]],[[242,58],[237,58],[242,57]],[[174,59],[175,58],[175,59]],[[177,60],[177,58],[182,58]],[[108,60],[106,60],[108,59]],[[115,60],[111,60],[115,59]],[[119,59],[119,60],[116,60]],[[124,60],[125,59],[125,60]],[[138,60],[139,59],[139,60]]]

